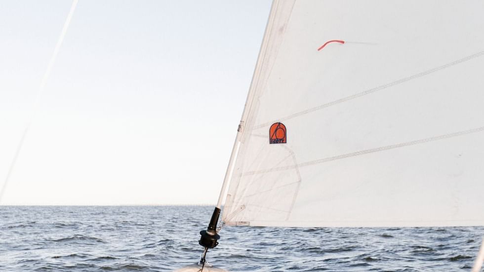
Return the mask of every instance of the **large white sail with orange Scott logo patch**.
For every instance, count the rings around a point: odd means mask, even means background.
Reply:
[[[222,220],[484,225],[483,10],[482,0],[276,0]]]

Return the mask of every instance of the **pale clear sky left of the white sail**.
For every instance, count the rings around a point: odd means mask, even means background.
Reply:
[[[71,3],[1,3],[0,204],[216,203],[271,1],[80,0],[36,107]]]

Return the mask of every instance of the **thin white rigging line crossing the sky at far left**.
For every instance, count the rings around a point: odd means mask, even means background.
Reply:
[[[52,67],[54,66],[55,59],[57,58],[57,55],[59,53],[60,47],[62,45],[62,42],[64,41],[64,37],[66,36],[67,29],[69,28],[69,24],[71,23],[72,16],[74,15],[74,11],[76,10],[76,6],[78,4],[79,0],[73,0],[71,4],[71,9],[69,10],[69,14],[67,15],[66,21],[64,22],[64,26],[62,27],[61,34],[59,36],[59,39],[57,39],[57,43],[55,44],[54,52],[52,53],[52,56],[50,57],[50,61],[47,65],[47,69],[45,70],[45,73],[40,81],[40,86],[39,89],[37,90],[36,98],[34,100],[33,104],[33,109],[31,111],[30,117],[28,119],[27,125],[22,133],[22,137],[20,138],[20,141],[17,145],[17,149],[15,150],[15,155],[13,156],[12,162],[10,163],[10,167],[8,168],[7,175],[5,177],[5,181],[3,182],[3,185],[0,189],[0,204],[3,198],[3,195],[5,194],[5,189],[7,187],[8,181],[10,180],[10,177],[12,175],[13,169],[15,168],[15,164],[17,163],[18,156],[20,154],[20,151],[22,150],[22,146],[24,145],[25,138],[27,136],[27,133],[30,129],[30,126],[32,125],[32,122],[34,120],[34,117],[39,109],[40,105],[40,97],[42,95],[43,90],[45,89],[45,85],[47,83],[47,80],[50,76],[50,72],[52,72]]]

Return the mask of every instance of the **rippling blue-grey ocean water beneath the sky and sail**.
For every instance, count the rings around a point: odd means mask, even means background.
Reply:
[[[168,272],[195,263],[210,206],[0,206],[0,271]],[[237,271],[470,271],[484,228],[226,227]]]

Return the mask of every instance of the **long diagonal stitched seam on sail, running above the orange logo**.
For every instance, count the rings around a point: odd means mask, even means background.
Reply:
[[[396,81],[393,81],[393,82],[390,82],[390,83],[387,83],[387,84],[383,84],[383,85],[380,85],[380,86],[377,86],[377,87],[374,87],[374,88],[371,88],[371,89],[367,89],[363,92],[353,94],[353,95],[350,95],[350,96],[346,96],[346,97],[325,103],[325,104],[317,106],[317,107],[313,107],[313,108],[310,108],[310,109],[307,109],[307,110],[304,110],[304,111],[301,111],[301,112],[297,112],[295,114],[292,114],[292,115],[289,115],[289,116],[286,116],[286,117],[279,118],[277,120],[272,120],[270,122],[258,124],[258,125],[255,125],[253,127],[248,128],[248,129],[254,130],[254,129],[266,127],[266,126],[268,126],[271,123],[274,123],[276,121],[285,121],[285,120],[288,120],[288,119],[292,119],[294,117],[299,117],[299,116],[302,116],[302,115],[309,114],[309,113],[314,112],[314,111],[319,111],[319,110],[322,110],[322,109],[327,108],[327,107],[334,106],[334,105],[339,104],[339,103],[343,103],[343,102],[346,102],[346,101],[349,101],[349,100],[353,100],[355,98],[359,98],[359,97],[365,96],[367,94],[375,93],[377,91],[381,91],[381,90],[390,88],[392,86],[405,83],[405,82],[410,81],[410,80],[415,79],[415,78],[425,77],[425,76],[430,75],[432,73],[439,72],[439,71],[444,70],[446,68],[452,67],[452,66],[457,65],[457,64],[464,63],[466,61],[469,61],[471,59],[474,59],[474,58],[477,58],[477,57],[480,57],[480,56],[483,56],[483,55],[484,55],[484,51],[480,51],[478,53],[475,53],[475,54],[469,55],[467,57],[455,60],[453,62],[449,62],[447,64],[432,68],[430,70],[427,70],[427,71],[424,71],[424,72],[421,72],[421,73],[418,73],[418,74],[415,74],[415,75],[412,75],[412,76],[408,76],[408,77],[405,77],[405,78],[402,78],[402,79],[399,79],[399,80],[396,80]]]

